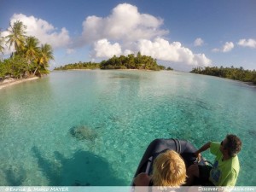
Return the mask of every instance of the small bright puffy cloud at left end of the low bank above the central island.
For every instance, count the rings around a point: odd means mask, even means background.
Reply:
[[[121,55],[122,50],[118,43],[110,44],[108,39],[104,38],[101,40],[98,40],[94,44],[94,51],[93,55],[96,57],[107,57],[110,58],[113,55]]]

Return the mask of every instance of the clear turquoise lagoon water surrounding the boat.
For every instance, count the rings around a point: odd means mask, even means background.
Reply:
[[[0,185],[130,185],[154,138],[241,137],[256,185],[256,88],[177,72],[68,71],[0,90]],[[91,134],[73,137],[73,127]],[[213,160],[209,152],[203,154]]]

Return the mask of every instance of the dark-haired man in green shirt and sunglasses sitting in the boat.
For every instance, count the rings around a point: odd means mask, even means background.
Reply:
[[[204,185],[235,186],[240,169],[237,156],[241,150],[240,138],[230,134],[221,143],[206,143],[195,152],[195,156],[201,159],[201,152],[208,148],[216,156],[213,166],[200,166],[198,164],[189,166],[186,185],[192,185],[195,177],[199,177]]]

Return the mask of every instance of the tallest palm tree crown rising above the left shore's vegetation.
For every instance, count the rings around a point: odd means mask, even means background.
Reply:
[[[9,49],[15,44],[15,51],[20,52],[24,49],[25,45],[25,32],[26,26],[20,20],[15,21],[14,25],[10,25],[8,32],[9,35],[6,37],[8,38],[7,44],[9,44]]]

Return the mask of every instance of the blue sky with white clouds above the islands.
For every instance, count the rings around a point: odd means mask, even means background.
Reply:
[[[0,28],[21,20],[51,44],[51,68],[141,51],[166,67],[256,69],[256,1],[1,0]],[[5,51],[5,56],[10,50]]]

